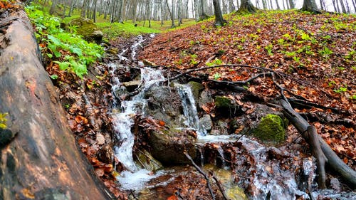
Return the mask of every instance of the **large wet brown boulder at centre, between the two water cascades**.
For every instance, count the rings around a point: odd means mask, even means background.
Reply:
[[[193,130],[154,130],[149,137],[151,154],[166,165],[189,164],[183,152],[187,152],[192,159],[197,157],[194,147],[196,138]]]

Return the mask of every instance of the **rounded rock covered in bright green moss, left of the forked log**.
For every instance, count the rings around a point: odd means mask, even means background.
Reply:
[[[262,117],[253,135],[262,142],[280,144],[285,140],[287,123],[278,115],[268,114]]]

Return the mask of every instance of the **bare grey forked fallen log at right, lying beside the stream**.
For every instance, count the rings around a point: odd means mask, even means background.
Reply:
[[[315,127],[310,126],[309,123],[301,117],[298,112],[295,112],[286,100],[279,100],[283,107],[283,114],[294,125],[294,127],[303,135],[305,140],[312,146],[313,156],[318,161],[319,181],[321,186],[325,186],[325,170],[323,167],[324,162],[330,165],[330,167],[340,174],[342,179],[347,181],[352,188],[356,188],[356,172],[351,169],[347,164],[337,157],[337,154],[330,148],[330,146],[323,140],[315,130]],[[318,142],[316,142],[318,140]],[[317,144],[318,143],[318,144]],[[320,152],[321,150],[321,152]],[[326,159],[325,159],[326,158]],[[321,169],[320,169],[321,168]],[[320,174],[321,173],[321,174]],[[320,180],[324,179],[324,180]]]

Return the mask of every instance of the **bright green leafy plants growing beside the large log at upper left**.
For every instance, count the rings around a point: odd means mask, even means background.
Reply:
[[[68,70],[83,78],[87,73],[87,65],[102,57],[103,47],[88,43],[76,35],[75,26],[69,26],[69,32],[63,30],[60,28],[61,19],[45,14],[39,6],[27,6],[26,11],[36,26],[36,38],[43,43],[41,51],[61,70]],[[51,75],[51,78],[56,79],[58,75]]]

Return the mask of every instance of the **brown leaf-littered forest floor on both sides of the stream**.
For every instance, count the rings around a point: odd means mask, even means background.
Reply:
[[[140,52],[140,59],[182,73],[220,65],[190,75],[226,83],[261,73],[253,66],[276,72],[278,80],[266,75],[242,87],[273,102],[281,96],[278,81],[287,98],[309,103],[310,107],[295,110],[304,113],[337,155],[356,169],[356,16],[258,11],[230,14],[226,20],[222,27],[215,27],[211,20],[159,34]],[[126,39],[118,39],[110,45],[125,43]],[[108,68],[98,64],[79,79],[53,62],[47,64],[49,75],[59,76],[53,83],[82,152],[105,186],[115,196],[125,196],[115,182],[115,160],[110,152],[114,136],[108,115],[113,98]],[[297,132],[292,126],[289,129]]]

